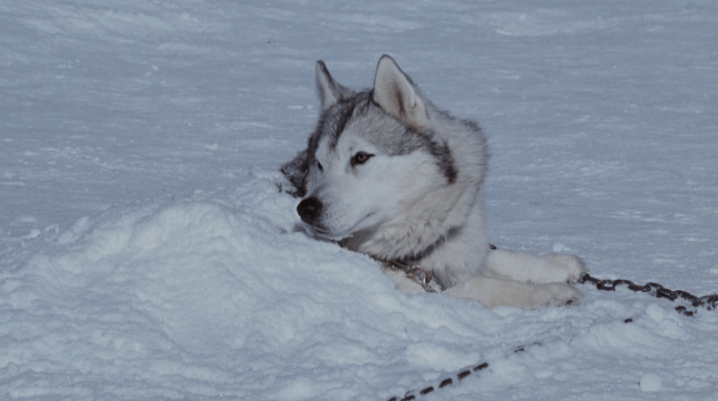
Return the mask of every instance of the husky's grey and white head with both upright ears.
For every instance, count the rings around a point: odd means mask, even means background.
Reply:
[[[341,240],[396,220],[441,218],[432,216],[436,199],[423,200],[455,183],[453,156],[435,132],[430,104],[394,60],[383,56],[373,88],[359,92],[335,82],[318,61],[316,87],[316,130],[307,149],[282,167],[294,195],[304,197],[297,212],[305,225]]]

